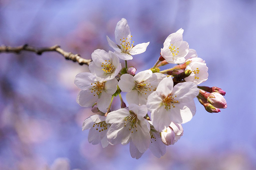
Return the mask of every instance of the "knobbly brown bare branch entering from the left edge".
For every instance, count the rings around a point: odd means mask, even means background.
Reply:
[[[41,55],[42,53],[46,51],[56,51],[63,55],[65,59],[72,60],[74,62],[78,62],[80,65],[89,65],[92,60],[84,59],[80,56],[80,54],[74,54],[71,52],[66,52],[63,49],[60,48],[60,46],[55,45],[51,47],[43,47],[43,48],[37,48],[33,46],[28,46],[25,44],[24,46],[17,46],[17,47],[11,47],[11,46],[0,46],[0,53],[20,53],[21,51],[32,51],[35,52],[38,55]]]

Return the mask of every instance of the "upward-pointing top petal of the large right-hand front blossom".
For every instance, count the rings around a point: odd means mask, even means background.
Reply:
[[[164,78],[160,83],[158,84],[156,91],[159,91],[164,94],[164,96],[168,96],[171,94],[173,89],[173,81],[172,76]]]

